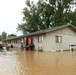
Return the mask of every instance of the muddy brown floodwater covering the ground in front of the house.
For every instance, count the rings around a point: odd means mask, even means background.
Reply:
[[[0,75],[76,75],[76,51],[0,52]]]

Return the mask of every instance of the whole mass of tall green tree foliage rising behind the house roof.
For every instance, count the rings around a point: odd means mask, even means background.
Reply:
[[[71,13],[74,0],[39,0],[37,3],[26,1],[23,9],[23,23],[18,24],[17,30],[25,33],[35,32],[50,27],[60,26],[70,22],[75,24],[75,12]],[[70,15],[70,16],[69,16]]]

